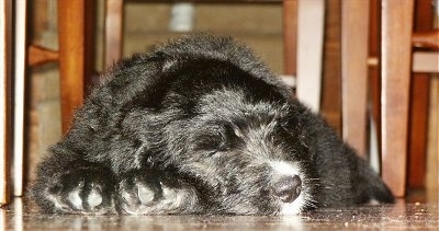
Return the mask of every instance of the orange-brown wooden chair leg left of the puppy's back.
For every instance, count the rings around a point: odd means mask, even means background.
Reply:
[[[58,0],[63,132],[82,104],[93,68],[93,0]]]

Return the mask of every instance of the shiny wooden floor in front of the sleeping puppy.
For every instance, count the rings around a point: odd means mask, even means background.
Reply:
[[[2,230],[439,230],[437,204],[319,209],[284,217],[43,215],[20,198],[0,209]]]

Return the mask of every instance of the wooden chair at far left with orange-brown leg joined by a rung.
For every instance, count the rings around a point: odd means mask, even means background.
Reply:
[[[10,198],[10,162],[13,163],[11,166],[14,186],[12,195],[22,196],[23,194],[25,66],[59,60],[63,76],[60,89],[64,130],[67,130],[75,108],[82,102],[85,84],[91,77],[93,66],[93,43],[91,42],[93,39],[93,20],[89,19],[94,15],[94,1],[58,1],[59,50],[49,50],[34,45],[26,46],[26,0],[0,1],[2,42],[0,51],[3,57],[0,68],[2,78],[0,107],[4,112],[1,114],[3,118],[1,119],[2,147],[0,147],[0,159],[2,160],[0,164],[0,204],[8,203]],[[15,33],[14,41],[12,41],[12,26]],[[14,57],[13,67],[12,57]],[[13,95],[11,95],[12,86]],[[12,116],[13,125],[11,124]]]

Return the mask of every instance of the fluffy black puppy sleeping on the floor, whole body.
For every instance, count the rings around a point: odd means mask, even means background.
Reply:
[[[48,212],[291,215],[393,196],[252,53],[199,35],[116,63],[40,163]]]

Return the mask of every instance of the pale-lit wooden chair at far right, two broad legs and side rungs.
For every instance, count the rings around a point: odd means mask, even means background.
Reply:
[[[358,37],[368,37],[369,15],[360,13],[363,9],[369,9],[369,1],[342,1],[344,129],[348,131],[346,139],[353,146],[362,146],[365,140],[362,134],[354,135],[365,129],[367,93],[362,85],[367,85],[368,49],[365,39],[358,41]],[[413,33],[414,1],[382,0],[381,10],[382,176],[395,196],[402,197],[406,192],[410,73],[439,71],[437,53],[413,54],[412,47],[437,49],[439,33]],[[351,95],[358,97],[358,94],[363,99],[361,105],[350,102]]]

